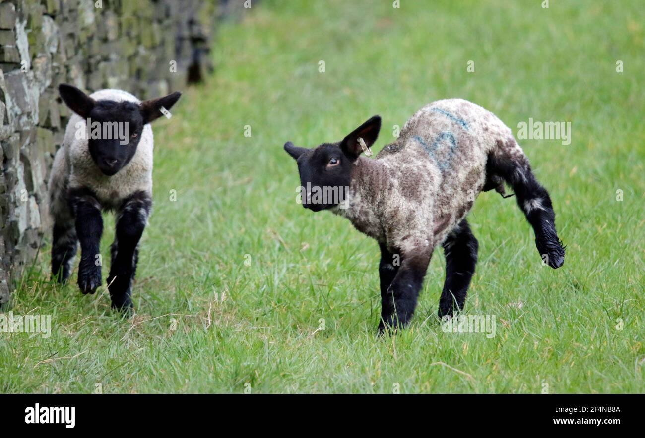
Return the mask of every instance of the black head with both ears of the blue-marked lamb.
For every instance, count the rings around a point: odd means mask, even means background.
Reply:
[[[381,117],[374,116],[339,143],[313,149],[284,144],[284,150],[298,163],[303,207],[321,211],[346,201],[356,160],[363,146],[374,144],[380,129]]]

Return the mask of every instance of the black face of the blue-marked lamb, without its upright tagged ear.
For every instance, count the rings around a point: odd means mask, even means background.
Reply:
[[[296,146],[290,142],[284,145],[290,154],[294,148]],[[354,161],[338,144],[325,143],[314,149],[305,149],[296,159],[303,207],[321,211],[344,202],[352,182]]]

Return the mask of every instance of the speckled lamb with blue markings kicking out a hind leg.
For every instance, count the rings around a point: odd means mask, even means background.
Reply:
[[[344,216],[379,243],[379,332],[410,322],[437,245],[446,255],[439,318],[463,310],[478,250],[466,214],[481,191],[504,196],[504,183],[511,186],[544,262],[553,269],[564,263],[551,198],[511,129],[490,111],[468,100],[437,100],[375,159],[362,157],[371,155],[380,129],[374,116],[341,142],[312,149],[284,144],[297,161],[303,207]],[[312,187],[339,195],[312,199]]]

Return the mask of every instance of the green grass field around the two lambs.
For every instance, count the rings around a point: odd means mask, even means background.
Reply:
[[[642,5],[550,3],[266,0],[221,26],[210,81],[154,127],[137,313],[110,311],[104,285],[82,296],[75,274],[50,283],[43,247],[7,310],[50,314],[53,333],[0,334],[0,392],[644,392]],[[466,314],[495,315],[495,336],[442,332],[436,251],[412,326],[379,338],[377,244],[295,202],[282,146],[380,114],[380,149],[446,97],[514,133],[571,122],[571,144],[520,140],[566,261],[542,266],[515,200],[482,193]],[[111,217],[105,229],[109,260]]]

